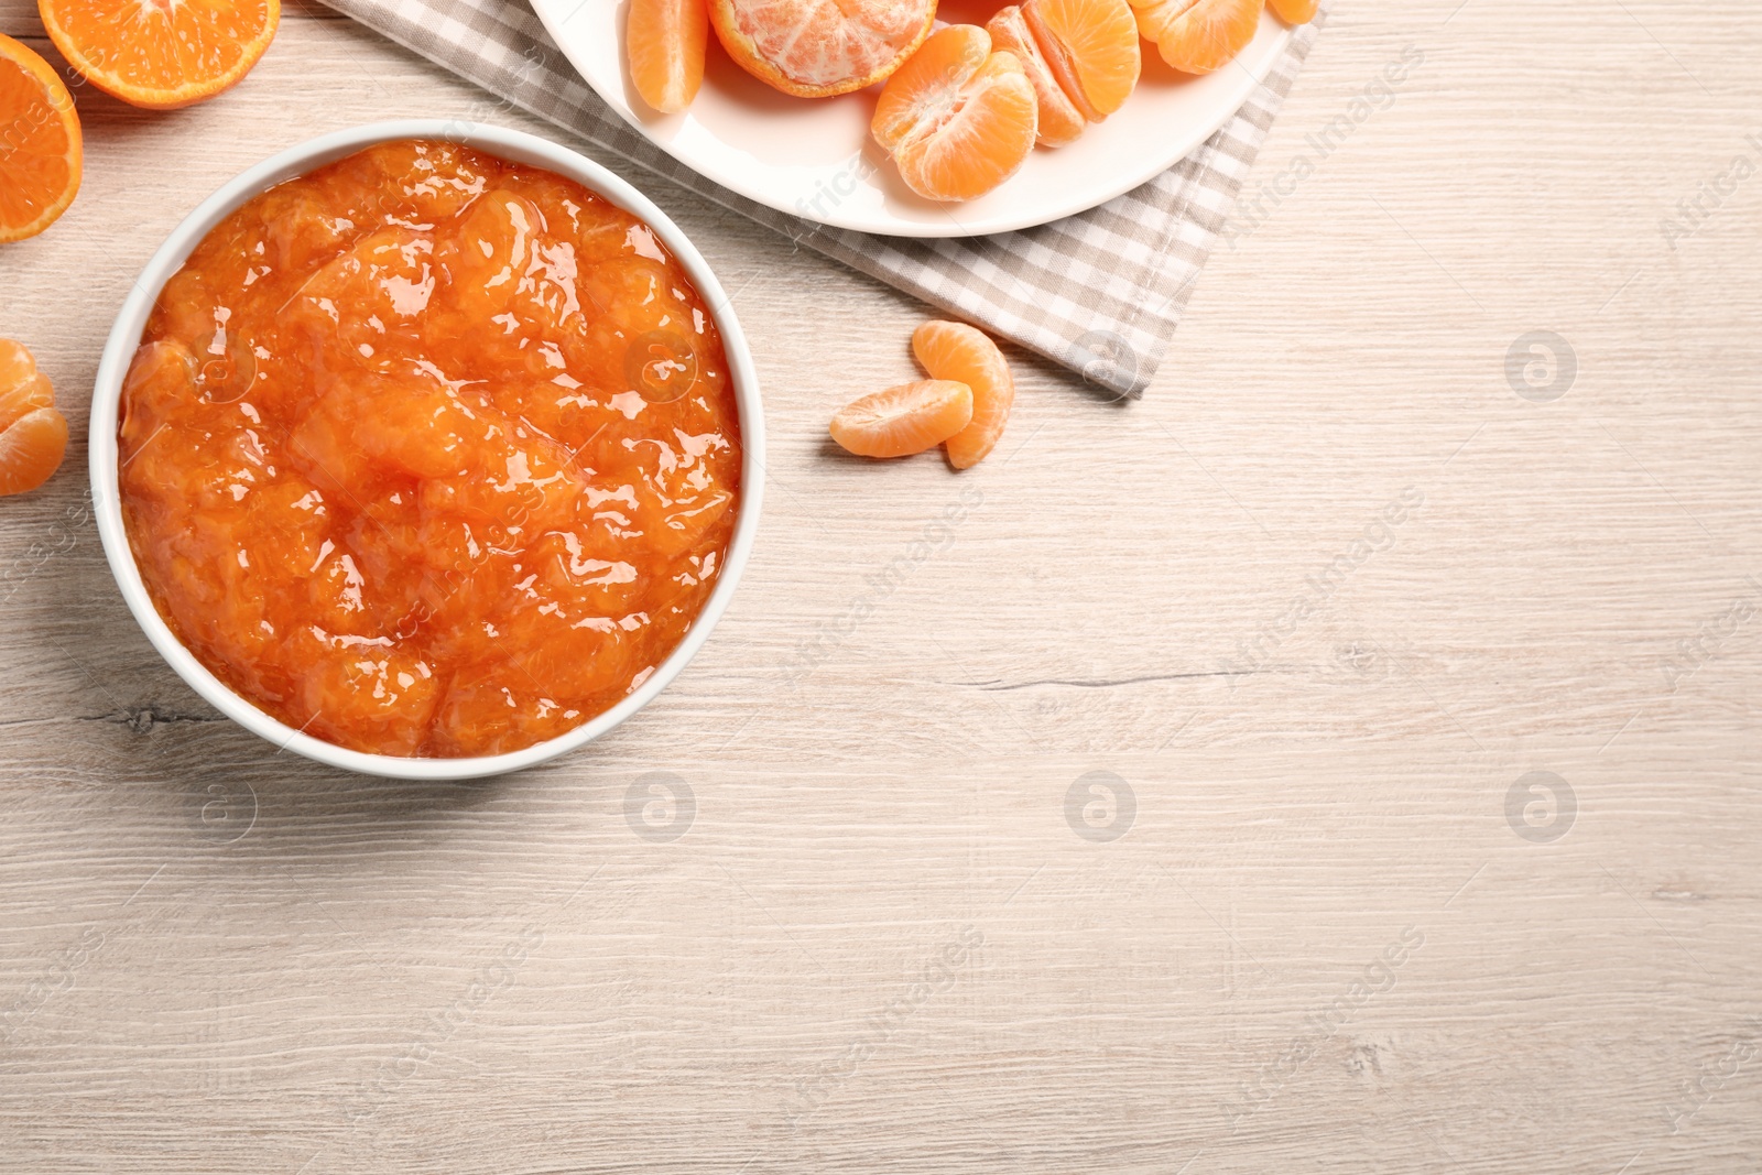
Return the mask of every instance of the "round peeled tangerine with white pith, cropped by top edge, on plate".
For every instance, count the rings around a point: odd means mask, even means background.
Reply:
[[[892,76],[930,35],[936,0],[710,0],[728,55],[759,81],[805,99]]]

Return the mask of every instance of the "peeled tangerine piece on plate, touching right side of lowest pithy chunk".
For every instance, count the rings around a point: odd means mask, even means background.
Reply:
[[[1070,143],[1138,85],[1138,25],[1126,0],[1027,0],[1001,9],[985,30],[1034,85],[1045,146]]]

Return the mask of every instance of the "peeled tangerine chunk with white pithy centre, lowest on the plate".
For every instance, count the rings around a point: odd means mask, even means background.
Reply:
[[[1034,150],[1034,86],[976,25],[923,42],[881,90],[870,132],[918,196],[964,201],[1013,176]]]

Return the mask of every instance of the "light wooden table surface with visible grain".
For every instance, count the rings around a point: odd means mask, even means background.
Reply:
[[[1011,356],[960,477],[825,440],[922,307],[631,176],[756,340],[758,555],[636,721],[458,786],[218,719],[79,502],[173,224],[483,97],[303,4],[211,104],[81,92],[0,250],[76,432],[0,502],[0,1168],[1753,1173],[1758,53],[1751,0],[1341,0],[1145,400]]]

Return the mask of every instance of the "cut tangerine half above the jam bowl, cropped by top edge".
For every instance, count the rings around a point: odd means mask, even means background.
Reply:
[[[86,81],[169,111],[236,86],[275,39],[282,0],[37,0],[37,11]]]

